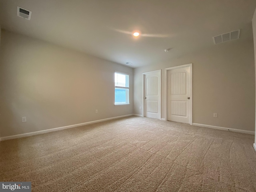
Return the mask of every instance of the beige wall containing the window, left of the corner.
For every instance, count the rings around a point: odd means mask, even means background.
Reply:
[[[130,74],[130,105],[114,106],[115,70]],[[132,114],[133,69],[2,30],[0,93],[2,137],[57,128]]]

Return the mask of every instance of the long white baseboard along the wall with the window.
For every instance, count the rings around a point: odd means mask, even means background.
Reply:
[[[88,124],[93,124],[93,123],[98,123],[98,122],[103,122],[103,121],[108,121],[108,120],[112,120],[112,119],[118,119],[118,118],[133,116],[133,115],[134,114],[129,114],[129,115],[123,115],[123,116],[117,116],[117,117],[112,117],[112,118],[100,119],[100,120],[90,121],[90,122],[85,122],[85,123],[79,123],[79,124],[74,124],[74,125],[68,125],[68,126],[64,126],[64,127],[57,127],[57,128],[46,129],[46,130],[41,130],[41,131],[35,131],[35,132],[18,134],[18,135],[0,137],[0,141],[22,138],[22,137],[28,137],[28,136],[32,136],[32,135],[38,135],[38,134],[44,134],[44,133],[48,133],[48,132],[59,131],[59,130],[74,128],[74,127],[80,127],[80,126],[84,126],[84,125],[88,125]]]

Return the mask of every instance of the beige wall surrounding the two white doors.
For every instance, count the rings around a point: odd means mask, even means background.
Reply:
[[[168,52],[166,54],[172,54]],[[142,114],[142,73],[162,69],[162,118],[165,118],[164,69],[192,63],[192,122],[255,130],[253,42],[234,40],[182,58],[134,69],[134,114]],[[213,118],[213,113],[218,118]]]

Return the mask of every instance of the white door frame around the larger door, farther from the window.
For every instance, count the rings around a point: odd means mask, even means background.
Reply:
[[[190,67],[190,125],[192,125],[192,63],[190,64],[185,64],[185,65],[179,65],[179,66],[174,66],[174,67],[169,67],[165,68],[165,121],[168,121],[168,70],[174,70],[174,69],[179,69],[179,68],[184,68],[184,67]]]

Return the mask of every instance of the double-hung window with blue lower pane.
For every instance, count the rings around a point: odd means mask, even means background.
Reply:
[[[115,72],[115,105],[129,104],[129,75]]]

